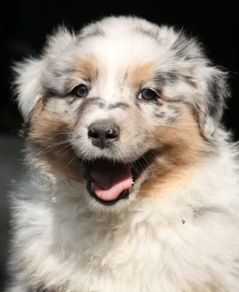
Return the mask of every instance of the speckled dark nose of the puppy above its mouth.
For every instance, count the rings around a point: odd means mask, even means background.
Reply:
[[[120,134],[120,128],[111,121],[98,121],[89,126],[88,137],[94,146],[109,147]]]

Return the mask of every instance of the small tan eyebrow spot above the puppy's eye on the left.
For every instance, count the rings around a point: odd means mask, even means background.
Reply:
[[[76,71],[81,78],[86,80],[94,80],[97,76],[97,68],[89,57],[80,57],[77,60]]]

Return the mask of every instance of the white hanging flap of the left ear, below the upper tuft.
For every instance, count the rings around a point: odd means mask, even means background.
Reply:
[[[43,61],[39,59],[27,59],[15,63],[14,93],[18,108],[24,122],[29,119],[37,100],[40,98],[41,74],[43,72]]]

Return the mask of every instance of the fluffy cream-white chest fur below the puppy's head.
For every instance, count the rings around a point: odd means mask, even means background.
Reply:
[[[41,190],[41,200],[16,202],[22,277],[69,292],[237,291],[239,198],[229,160],[118,215],[89,211],[63,177],[36,180],[25,196]]]

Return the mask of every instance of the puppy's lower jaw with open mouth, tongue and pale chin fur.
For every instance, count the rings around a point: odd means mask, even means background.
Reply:
[[[148,169],[154,160],[152,153],[147,152],[130,164],[102,158],[84,162],[88,201],[101,207],[129,205],[140,185],[149,178]]]

